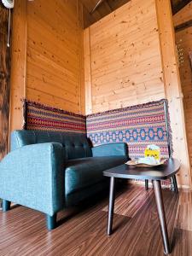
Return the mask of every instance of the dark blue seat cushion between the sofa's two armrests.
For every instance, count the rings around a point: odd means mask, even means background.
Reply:
[[[65,169],[65,195],[102,181],[102,172],[126,162],[126,156],[100,156],[68,160]]]

